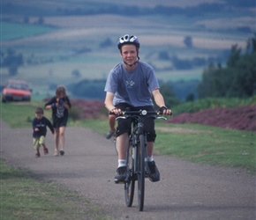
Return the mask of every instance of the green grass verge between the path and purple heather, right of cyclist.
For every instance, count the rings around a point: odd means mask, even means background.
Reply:
[[[256,173],[256,134],[202,125],[171,125],[157,132],[155,149],[161,154],[192,162],[244,168]],[[171,128],[188,130],[171,131]]]

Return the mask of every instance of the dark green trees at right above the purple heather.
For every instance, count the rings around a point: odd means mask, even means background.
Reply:
[[[203,71],[199,98],[248,98],[256,94],[256,33],[247,40],[244,53],[233,45],[225,67],[211,63]]]

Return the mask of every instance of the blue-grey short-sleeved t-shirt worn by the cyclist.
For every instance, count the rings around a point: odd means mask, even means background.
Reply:
[[[153,106],[151,97],[156,89],[159,84],[150,65],[138,62],[136,69],[130,72],[120,62],[110,70],[104,91],[115,93],[114,105]]]

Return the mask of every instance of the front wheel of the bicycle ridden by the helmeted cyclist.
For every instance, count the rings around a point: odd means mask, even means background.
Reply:
[[[139,136],[139,151],[138,151],[138,204],[139,211],[144,208],[144,194],[145,194],[145,139],[143,135]]]

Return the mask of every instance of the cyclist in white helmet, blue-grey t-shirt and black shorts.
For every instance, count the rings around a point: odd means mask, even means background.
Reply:
[[[139,39],[134,35],[124,35],[117,43],[117,48],[123,62],[120,62],[109,72],[105,85],[105,106],[114,114],[121,114],[125,108],[132,111],[147,110],[154,111],[151,99],[162,110],[162,114],[170,114],[171,110],[165,106],[164,99],[154,69],[146,62],[139,61]],[[128,149],[128,137],[131,133],[131,119],[119,119],[116,135],[118,147],[118,167],[115,181],[122,182],[126,177],[125,153]],[[147,160],[148,179],[155,182],[160,180],[160,173],[154,163],[153,149],[155,140],[154,119],[148,118],[144,122],[147,132]]]

